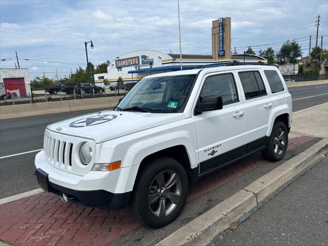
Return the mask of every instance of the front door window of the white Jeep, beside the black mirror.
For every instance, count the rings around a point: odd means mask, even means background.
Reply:
[[[200,96],[222,96],[223,105],[239,101],[235,80],[231,73],[208,77],[204,81]]]

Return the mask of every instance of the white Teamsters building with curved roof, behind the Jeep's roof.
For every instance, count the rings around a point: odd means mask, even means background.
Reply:
[[[182,54],[182,69],[197,66],[228,63],[232,60],[245,62],[267,62],[257,55],[232,55],[231,59],[213,59],[212,55]],[[107,67],[107,73],[94,74],[95,83],[104,86],[103,81],[116,82],[121,77],[125,84],[136,83],[140,78],[150,74],[180,70],[180,55],[166,54],[156,50],[138,50],[117,56]]]

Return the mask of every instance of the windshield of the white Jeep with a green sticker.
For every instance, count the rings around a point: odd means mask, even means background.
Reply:
[[[142,78],[115,110],[152,113],[182,112],[196,74]]]

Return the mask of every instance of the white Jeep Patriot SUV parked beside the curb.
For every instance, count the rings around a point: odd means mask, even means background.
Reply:
[[[274,66],[183,70],[142,78],[106,110],[47,126],[35,156],[40,187],[109,210],[129,204],[148,227],[180,214],[199,178],[288,146],[292,97]]]

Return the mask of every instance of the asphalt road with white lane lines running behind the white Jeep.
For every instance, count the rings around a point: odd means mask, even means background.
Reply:
[[[294,87],[289,89],[293,97],[293,111],[323,104],[328,101],[328,85],[314,85]],[[315,96],[321,95],[321,96]],[[309,97],[314,96],[314,97]],[[309,97],[304,98],[303,97]],[[91,111],[73,113],[33,116],[18,119],[0,121],[0,157],[33,151],[43,148],[43,135],[45,127],[53,122],[70,117],[83,115]],[[12,185],[6,186],[6,190],[0,187],[0,198],[19,194],[38,188],[34,172],[33,162],[37,152],[0,159],[0,179],[4,177],[15,178],[6,180]],[[1,180],[0,180],[1,182]]]

